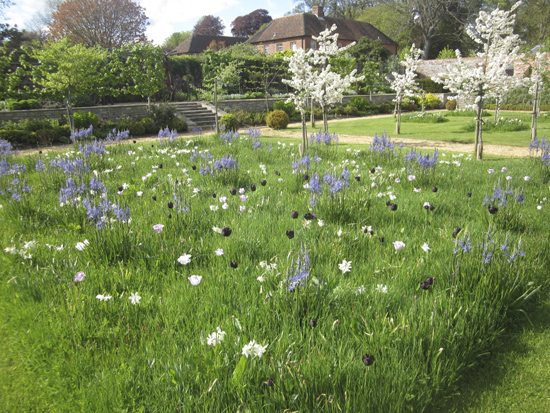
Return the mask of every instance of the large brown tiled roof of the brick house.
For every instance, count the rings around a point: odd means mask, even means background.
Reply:
[[[371,39],[380,39],[383,44],[397,46],[396,42],[370,23],[326,16],[317,17],[310,13],[293,14],[275,19],[248,39],[248,43],[318,36],[323,30],[330,29],[333,24],[338,28],[336,32],[340,40],[356,41],[366,36]]]

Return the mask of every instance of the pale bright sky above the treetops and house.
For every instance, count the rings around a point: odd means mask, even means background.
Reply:
[[[161,45],[174,32],[192,31],[205,15],[220,17],[225,24],[225,35],[231,36],[231,22],[257,9],[266,9],[272,18],[291,11],[293,0],[134,0],[139,2],[149,17],[147,37]],[[6,22],[20,29],[29,29],[36,12],[44,10],[45,0],[12,0],[13,6],[4,10]]]

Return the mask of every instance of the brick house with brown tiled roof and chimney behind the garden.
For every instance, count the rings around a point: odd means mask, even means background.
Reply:
[[[397,54],[397,43],[367,22],[327,17],[322,6],[314,6],[312,13],[299,13],[272,20],[256,32],[248,43],[256,45],[265,54],[285,50],[316,48],[313,36],[319,36],[332,25],[338,28],[338,45],[347,46],[361,37],[380,39],[382,45]]]

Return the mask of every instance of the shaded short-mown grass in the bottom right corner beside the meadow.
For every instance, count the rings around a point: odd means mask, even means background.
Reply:
[[[527,314],[527,315],[526,315]],[[550,411],[550,297],[526,313],[516,310],[493,352],[457,383],[430,412]]]

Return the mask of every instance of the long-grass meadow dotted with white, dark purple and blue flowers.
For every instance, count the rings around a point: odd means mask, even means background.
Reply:
[[[434,409],[545,287],[549,148],[331,138],[2,143],[2,410]]]

